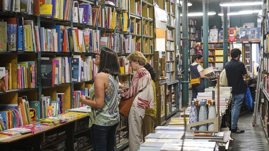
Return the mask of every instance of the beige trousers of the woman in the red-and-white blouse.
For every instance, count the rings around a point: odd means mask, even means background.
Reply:
[[[129,150],[137,151],[143,143],[142,121],[145,116],[145,109],[132,106],[129,117]]]

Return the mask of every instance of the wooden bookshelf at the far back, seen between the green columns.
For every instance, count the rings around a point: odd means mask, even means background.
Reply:
[[[198,43],[199,44],[199,43]],[[228,44],[228,61],[230,61],[230,46]],[[201,54],[203,54],[203,43],[200,43]],[[223,43],[214,42],[208,43],[208,67],[223,67]]]

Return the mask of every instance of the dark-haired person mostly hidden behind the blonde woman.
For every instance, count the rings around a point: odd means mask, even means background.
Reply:
[[[145,136],[149,135],[149,133],[154,133],[154,120],[156,119],[156,113],[157,113],[157,105],[156,105],[156,72],[153,69],[153,67],[150,66],[149,63],[147,63],[144,68],[149,71],[152,87],[153,87],[153,94],[154,94],[154,108],[152,109],[146,109],[145,117],[142,122],[142,131],[143,131],[143,138],[145,139]]]

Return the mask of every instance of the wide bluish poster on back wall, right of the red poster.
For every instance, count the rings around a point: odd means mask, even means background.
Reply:
[[[261,28],[243,28],[240,27],[240,41],[260,41],[261,39]]]

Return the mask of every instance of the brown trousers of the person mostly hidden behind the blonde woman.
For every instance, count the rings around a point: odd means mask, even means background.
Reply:
[[[149,135],[149,133],[154,133],[154,118],[151,116],[145,115],[142,122],[142,131],[143,131],[143,140],[145,141],[145,137]]]

